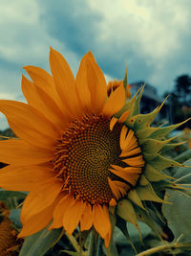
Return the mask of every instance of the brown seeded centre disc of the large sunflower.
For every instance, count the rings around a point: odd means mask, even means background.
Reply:
[[[134,184],[134,179],[138,180],[139,176],[135,174],[133,179],[124,180],[123,176],[111,171],[112,165],[125,169],[128,164],[120,157],[123,125],[117,123],[111,130],[110,121],[102,115],[75,119],[56,146],[53,165],[57,176],[64,181],[63,189],[68,190],[74,198],[91,204],[105,204],[115,198],[109,180],[120,184],[123,182],[124,186],[129,187],[127,184]]]

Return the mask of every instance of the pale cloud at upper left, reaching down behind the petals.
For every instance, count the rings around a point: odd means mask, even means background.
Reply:
[[[1,1],[0,61],[6,64],[0,68],[0,96],[7,94],[7,99],[14,99],[21,94],[23,66],[36,65],[49,71],[50,46],[67,53],[66,58],[69,57],[69,62],[76,67],[75,54],[46,32],[41,22],[43,12],[37,0]]]

